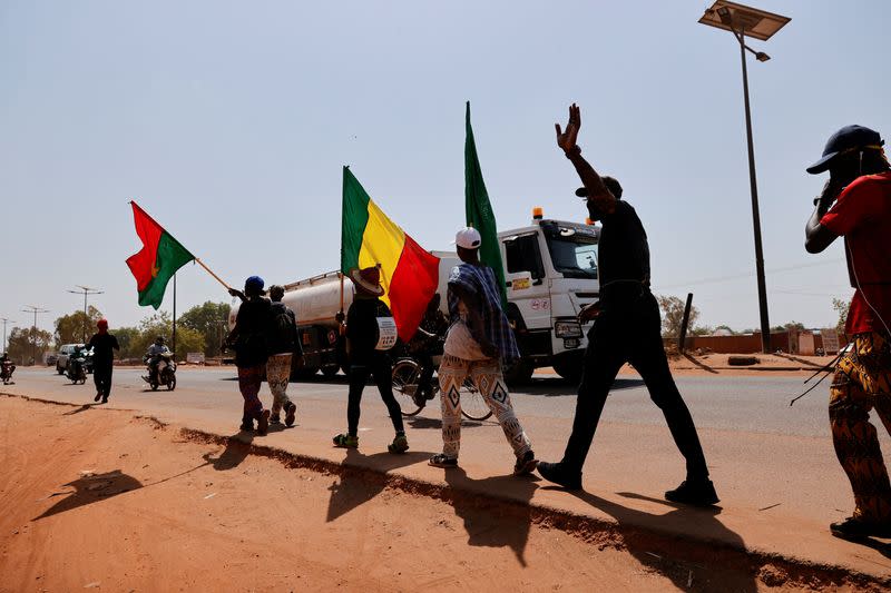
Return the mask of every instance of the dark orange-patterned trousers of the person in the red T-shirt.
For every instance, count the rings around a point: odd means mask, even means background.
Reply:
[[[891,520],[891,484],[869,422],[875,408],[891,433],[891,347],[881,334],[858,334],[835,367],[830,388],[829,418],[835,455],[854,491],[854,517]]]

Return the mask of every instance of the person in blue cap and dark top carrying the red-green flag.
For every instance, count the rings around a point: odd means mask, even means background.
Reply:
[[[244,397],[241,428],[251,432],[254,429],[254,421],[257,421],[258,435],[265,435],[270,428],[270,411],[264,409],[260,401],[260,387],[268,356],[266,329],[270,302],[263,297],[263,286],[264,281],[260,276],[251,276],[245,280],[245,300],[238,307],[235,327],[226,336],[226,344],[234,345],[235,348],[238,389]]]

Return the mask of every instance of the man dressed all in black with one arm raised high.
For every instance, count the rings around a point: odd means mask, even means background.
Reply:
[[[649,246],[634,208],[621,201],[621,186],[600,177],[581,157],[576,144],[581,127],[579,108],[569,108],[566,131],[557,125],[557,146],[576,167],[591,220],[600,220],[600,302],[582,309],[579,319],[594,319],[588,332],[585,368],[576,401],[572,434],[559,463],[538,464],[538,472],[568,490],[581,488],[581,466],[591,446],[600,413],[619,368],[627,362],[644,378],[649,396],[659,406],[672,436],[687,462],[687,478],[665,493],[668,501],[709,505],[718,502],[699,437],[677,391],[663,348],[659,306],[649,291]]]

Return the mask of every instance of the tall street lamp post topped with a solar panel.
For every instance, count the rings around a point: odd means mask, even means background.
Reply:
[[[755,176],[755,148],[752,140],[752,112],[748,103],[748,71],[746,69],[745,52],[750,51],[760,62],[771,59],[763,51],[755,51],[745,45],[745,38],[751,37],[766,41],[782,29],[790,20],[773,12],[757,8],[717,0],[705,11],[699,22],[717,29],[731,31],[740,42],[740,56],[743,61],[743,99],[745,103],[745,135],[748,145],[748,184],[752,194],[752,226],[755,235],[755,268],[758,283],[758,313],[761,316],[761,349],[771,352],[771,324],[767,316],[767,287],[764,278],[764,249],[761,241],[761,215],[758,213],[758,187]]]

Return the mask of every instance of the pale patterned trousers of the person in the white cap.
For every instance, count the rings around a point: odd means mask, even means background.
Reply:
[[[439,387],[442,397],[442,453],[458,458],[461,448],[461,385],[470,376],[480,391],[486,405],[492,411],[505,436],[513,447],[513,454],[521,458],[532,449],[529,438],[513,414],[510,394],[501,375],[501,363],[486,360],[464,360],[448,354],[439,367]]]

